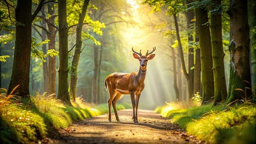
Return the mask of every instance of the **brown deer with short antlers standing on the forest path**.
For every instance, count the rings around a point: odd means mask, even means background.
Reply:
[[[144,89],[144,80],[147,72],[147,62],[154,58],[155,54],[152,54],[156,50],[156,47],[153,47],[151,52],[146,55],[141,54],[141,50],[135,52],[132,47],[133,57],[139,60],[139,71],[138,73],[112,73],[105,79],[105,88],[109,91],[109,100],[108,100],[108,121],[111,122],[111,104],[115,112],[115,119],[117,122],[120,122],[120,119],[117,114],[117,109],[115,104],[120,99],[122,95],[130,95],[132,101],[133,109],[133,122],[138,122],[138,104],[139,97],[141,92]]]

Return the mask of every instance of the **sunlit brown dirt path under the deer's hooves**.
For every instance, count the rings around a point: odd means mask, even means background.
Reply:
[[[132,109],[120,110],[118,116],[121,122],[114,113],[112,122],[106,114],[75,122],[50,143],[204,143],[151,110],[139,110],[136,124]]]

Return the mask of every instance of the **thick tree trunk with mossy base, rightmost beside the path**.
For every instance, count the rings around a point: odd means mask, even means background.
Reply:
[[[249,26],[247,1],[231,0],[230,15],[230,84],[226,103],[251,97],[249,67]]]

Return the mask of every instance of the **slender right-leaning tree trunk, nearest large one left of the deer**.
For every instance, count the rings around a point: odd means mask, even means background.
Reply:
[[[75,49],[75,54],[72,60],[71,77],[70,77],[70,92],[73,100],[76,100],[76,83],[78,81],[78,76],[77,76],[78,62],[79,62],[81,47],[82,47],[82,40],[81,40],[82,27],[83,27],[83,22],[85,19],[85,14],[87,11],[88,4],[89,4],[89,0],[85,0],[84,5],[82,7],[82,13],[79,14],[78,26],[76,28],[76,49]]]

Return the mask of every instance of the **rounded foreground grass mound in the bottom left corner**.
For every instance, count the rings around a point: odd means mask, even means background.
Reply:
[[[29,143],[47,134],[44,119],[23,105],[14,103],[19,97],[0,95],[0,139],[3,143]]]

